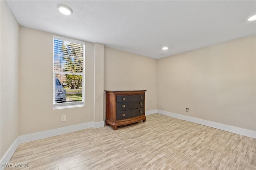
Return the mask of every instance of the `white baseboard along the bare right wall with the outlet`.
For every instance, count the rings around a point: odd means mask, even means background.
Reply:
[[[213,122],[213,121],[207,121],[207,120],[204,120],[204,119],[198,119],[198,118],[195,118],[195,117],[180,115],[180,114],[177,114],[177,113],[171,113],[171,112],[163,111],[163,110],[157,110],[157,113],[160,113],[160,114],[166,115],[166,116],[170,116],[170,117],[175,117],[175,118],[182,119],[182,120],[186,120],[186,121],[190,121],[190,122],[194,122],[194,123],[198,123],[200,125],[205,125],[205,126],[213,127],[213,128],[216,128],[216,129],[236,133],[236,134],[239,134],[239,135],[252,137],[252,138],[256,139],[256,131],[252,131],[252,130],[248,130],[248,129],[242,129],[240,127],[234,127],[234,126],[230,126],[230,125],[224,125],[224,124],[216,123],[216,122]]]

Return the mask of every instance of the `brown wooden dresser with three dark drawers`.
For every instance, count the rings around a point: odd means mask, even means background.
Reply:
[[[118,126],[128,125],[138,121],[146,121],[145,92],[137,91],[107,91],[106,92],[106,125],[114,130]]]

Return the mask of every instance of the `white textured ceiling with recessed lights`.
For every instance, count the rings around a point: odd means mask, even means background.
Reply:
[[[155,59],[256,33],[256,21],[246,20],[256,14],[255,0],[7,3],[24,27]],[[60,14],[57,4],[69,6],[73,14]],[[162,50],[164,46],[169,49]]]

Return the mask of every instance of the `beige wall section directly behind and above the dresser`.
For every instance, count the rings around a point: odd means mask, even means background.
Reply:
[[[104,48],[104,90],[147,90],[146,111],[156,109],[156,59]]]

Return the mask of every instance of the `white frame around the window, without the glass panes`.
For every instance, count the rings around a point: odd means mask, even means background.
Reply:
[[[72,108],[72,107],[83,107],[84,106],[84,100],[85,100],[85,42],[84,41],[79,41],[76,39],[70,39],[67,37],[60,37],[57,35],[52,35],[53,37],[53,63],[52,63],[52,107],[53,109],[64,109],[64,108]],[[54,39],[59,39],[62,41],[67,41],[70,43],[77,43],[77,44],[81,44],[84,46],[84,51],[83,51],[83,73],[82,73],[82,101],[79,102],[64,102],[64,103],[55,103],[55,78],[56,78],[56,71],[54,71]],[[63,72],[65,74],[65,72]],[[74,72],[74,74],[76,74],[76,72]]]

